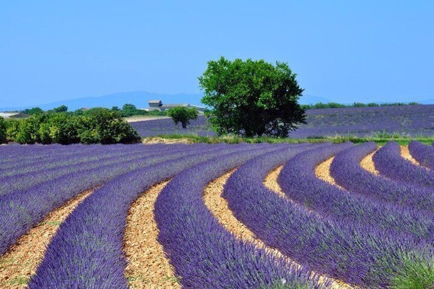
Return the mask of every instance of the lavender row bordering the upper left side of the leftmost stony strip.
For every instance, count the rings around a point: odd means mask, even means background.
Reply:
[[[201,145],[191,146],[190,150],[184,150],[175,156],[159,155],[157,150],[155,156],[147,155],[134,161],[69,173],[19,194],[12,193],[2,196],[0,198],[0,254],[3,254],[21,235],[42,220],[47,213],[80,192],[101,185],[127,171],[170,160],[179,157],[180,154],[187,155],[192,153],[191,150],[196,147],[205,152],[215,149],[205,149]]]

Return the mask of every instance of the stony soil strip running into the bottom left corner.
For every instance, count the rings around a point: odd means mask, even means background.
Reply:
[[[0,257],[0,288],[26,287],[60,224],[92,192],[93,190],[85,191],[53,210]]]

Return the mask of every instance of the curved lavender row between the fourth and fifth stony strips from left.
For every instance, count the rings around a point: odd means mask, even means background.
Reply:
[[[432,214],[405,210],[399,206],[378,202],[370,197],[352,194],[318,179],[315,167],[348,146],[336,145],[297,154],[290,159],[278,176],[278,183],[293,201],[330,218],[335,223],[365,228],[381,228],[390,234],[410,237],[420,242],[434,242]]]

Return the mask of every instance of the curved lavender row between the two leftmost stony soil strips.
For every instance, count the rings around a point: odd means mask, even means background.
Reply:
[[[220,146],[200,155],[178,155],[177,159],[145,166],[107,182],[61,225],[29,287],[127,287],[123,276],[126,262],[122,236],[128,209],[134,200],[155,183],[167,180],[191,165],[246,149],[245,145]],[[75,262],[71,263],[71,259]]]

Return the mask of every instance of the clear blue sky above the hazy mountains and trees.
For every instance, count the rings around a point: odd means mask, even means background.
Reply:
[[[199,93],[206,62],[286,61],[305,94],[434,98],[430,1],[7,1],[0,106]],[[413,98],[412,98],[413,97]]]

